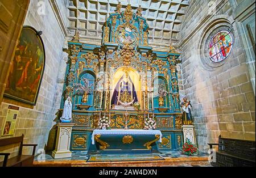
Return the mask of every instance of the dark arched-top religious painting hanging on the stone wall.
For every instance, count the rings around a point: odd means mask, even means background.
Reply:
[[[41,34],[32,27],[23,27],[10,66],[4,94],[6,97],[36,104],[46,62]]]

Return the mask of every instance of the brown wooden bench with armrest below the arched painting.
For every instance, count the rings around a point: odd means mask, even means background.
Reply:
[[[37,144],[23,144],[24,135],[20,137],[4,138],[0,139],[0,146],[13,145],[19,143],[19,154],[13,158],[9,158],[10,152],[0,152],[0,156],[5,156],[3,162],[0,162],[2,167],[11,167],[11,166],[33,166],[35,149]],[[33,146],[32,155],[23,155],[22,149],[23,146]]]

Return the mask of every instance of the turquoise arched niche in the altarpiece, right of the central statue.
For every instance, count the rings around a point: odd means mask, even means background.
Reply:
[[[163,105],[159,104],[160,95],[158,91],[161,85],[164,86],[164,89],[167,92],[166,96],[164,96]],[[165,77],[158,75],[154,78],[154,108],[159,108],[159,107],[168,108],[168,105],[170,105],[168,82]]]

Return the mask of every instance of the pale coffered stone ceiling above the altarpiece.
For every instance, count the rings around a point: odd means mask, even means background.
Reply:
[[[120,0],[122,10],[130,2],[134,12],[141,5],[142,16],[149,25],[149,42],[154,45],[176,45],[188,0]],[[116,0],[68,0],[69,35],[79,29],[85,40],[101,42],[102,26],[110,13],[113,13]]]

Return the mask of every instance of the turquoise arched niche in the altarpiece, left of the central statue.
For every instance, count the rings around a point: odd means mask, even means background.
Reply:
[[[88,81],[88,84],[84,82],[84,79]],[[84,104],[84,105],[90,105],[93,106],[94,101],[94,89],[95,89],[95,82],[96,81],[96,75],[93,73],[93,71],[90,70],[84,70],[79,75],[78,83],[81,83],[83,86],[87,86],[91,88],[91,91],[88,94],[84,94],[82,96],[76,96],[76,103],[78,105]]]

